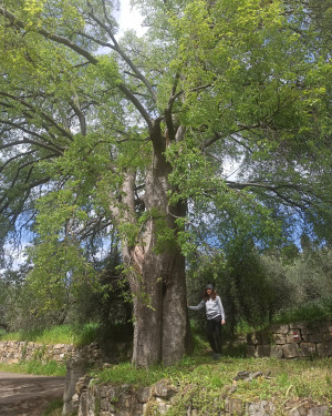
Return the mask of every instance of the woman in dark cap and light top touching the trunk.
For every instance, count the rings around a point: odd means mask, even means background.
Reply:
[[[221,325],[226,324],[225,312],[220,297],[215,287],[206,285],[204,297],[197,306],[188,306],[191,311],[199,311],[206,307],[207,337],[214,352],[214,358],[219,359],[221,354]]]

